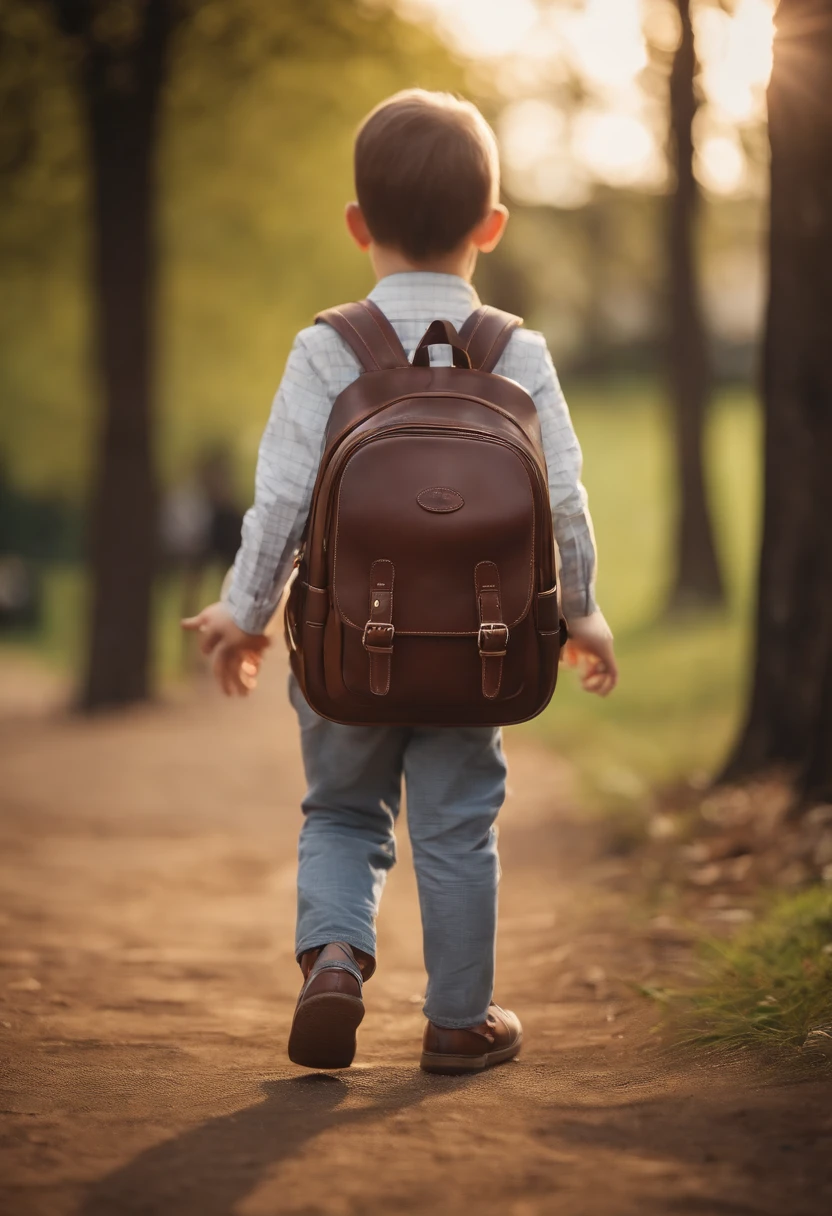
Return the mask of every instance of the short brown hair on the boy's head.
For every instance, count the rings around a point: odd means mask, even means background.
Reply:
[[[355,190],[370,233],[415,263],[456,249],[499,184],[494,131],[449,92],[397,92],[359,129]]]

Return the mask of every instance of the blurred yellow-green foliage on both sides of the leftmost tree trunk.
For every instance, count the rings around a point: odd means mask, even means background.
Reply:
[[[293,334],[369,286],[342,215],[358,122],[401,88],[459,89],[462,69],[386,5],[181,11],[158,156],[158,451],[170,480],[223,441],[248,492]],[[0,0],[0,456],[21,488],[75,501],[96,398],[79,62],[47,4]]]

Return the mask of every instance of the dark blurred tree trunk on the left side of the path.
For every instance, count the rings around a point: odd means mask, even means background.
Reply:
[[[81,705],[147,697],[156,565],[153,162],[172,0],[141,0],[127,41],[86,11],[95,355],[103,394],[92,490],[92,603]]]

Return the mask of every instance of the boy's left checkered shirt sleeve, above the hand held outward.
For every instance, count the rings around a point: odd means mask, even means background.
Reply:
[[[254,505],[225,603],[240,629],[262,634],[292,570],[311,505],[331,394],[298,334],[275,395],[257,461]]]

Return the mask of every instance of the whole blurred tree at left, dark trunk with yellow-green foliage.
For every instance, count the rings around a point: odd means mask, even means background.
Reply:
[[[417,83],[462,72],[370,0],[0,0],[5,441],[35,490],[79,496],[94,467],[86,705],[148,688],[152,456],[168,480],[210,443],[252,460],[293,332],[366,288],[342,220],[353,129]]]

